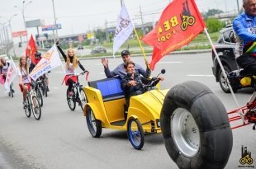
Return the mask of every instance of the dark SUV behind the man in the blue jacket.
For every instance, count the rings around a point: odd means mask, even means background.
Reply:
[[[235,35],[232,26],[226,26],[220,31],[220,36],[214,45],[217,54],[219,55],[220,62],[228,74],[232,71],[238,70],[238,64],[235,61]],[[230,92],[230,88],[225,77],[222,75],[220,64],[216,58],[216,54],[212,50],[212,73],[216,77],[216,82],[220,82],[220,87],[224,92]],[[235,88],[234,88],[235,89]],[[234,91],[236,91],[235,89]]]

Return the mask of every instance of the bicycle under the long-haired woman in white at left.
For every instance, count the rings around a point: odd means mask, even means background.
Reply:
[[[30,87],[30,85],[32,87]],[[33,86],[36,84],[28,84],[28,92],[26,94],[26,105],[23,107],[27,117],[31,117],[31,111],[36,120],[40,120],[41,117],[41,107],[40,102],[36,96],[36,91]]]

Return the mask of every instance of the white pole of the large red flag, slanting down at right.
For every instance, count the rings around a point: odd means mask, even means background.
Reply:
[[[231,87],[231,85],[230,85],[230,81],[229,81],[229,79],[228,79],[228,77],[227,77],[227,75],[226,75],[226,73],[225,73],[225,69],[223,68],[223,65],[222,65],[222,63],[221,63],[221,61],[220,61],[220,57],[219,57],[219,55],[218,55],[217,52],[216,52],[216,49],[215,49],[215,47],[214,47],[214,45],[213,45],[213,43],[212,43],[212,41],[211,41],[211,37],[210,37],[210,35],[209,35],[209,33],[208,33],[206,27],[204,27],[204,31],[205,31],[205,33],[206,33],[206,36],[207,36],[208,40],[210,41],[211,48],[212,48],[214,54],[216,55],[216,59],[217,59],[219,65],[220,65],[222,74],[223,74],[223,76],[225,77],[225,79],[226,79],[226,81],[227,81],[227,84],[228,84],[228,86],[229,86],[229,88],[230,88],[230,92],[231,92],[231,94],[232,94],[232,96],[233,96],[233,98],[234,98],[234,100],[235,100],[236,106],[239,107],[238,101],[236,100],[236,97],[235,97],[235,93],[234,93],[234,91],[233,91],[233,89],[232,89],[232,87]]]

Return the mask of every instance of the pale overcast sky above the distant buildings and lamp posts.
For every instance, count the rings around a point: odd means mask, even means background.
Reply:
[[[242,0],[239,6],[242,5]],[[5,23],[12,15],[12,31],[23,31],[23,0],[0,0],[0,23]],[[25,4],[30,0],[25,0]],[[117,15],[121,10],[121,0],[54,0],[57,23],[62,25],[59,35],[87,32],[97,27],[116,26]],[[140,7],[144,22],[157,21],[170,0],[125,0],[132,21],[140,24]],[[196,0],[200,12],[218,8],[222,11],[237,11],[237,0]],[[17,6],[17,7],[14,7]],[[53,0],[32,0],[24,10],[26,21],[41,19],[45,26],[54,24]],[[6,19],[5,19],[6,18]],[[36,33],[36,28],[28,28],[28,34]],[[42,32],[40,29],[40,33]],[[51,33],[51,32],[48,32]]]

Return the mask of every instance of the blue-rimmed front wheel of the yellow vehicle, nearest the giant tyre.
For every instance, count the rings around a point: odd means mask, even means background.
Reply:
[[[144,146],[145,138],[144,131],[139,120],[131,117],[127,124],[127,135],[131,145],[140,150]]]

